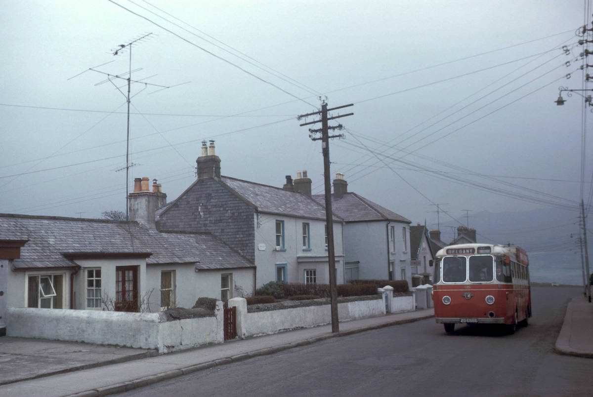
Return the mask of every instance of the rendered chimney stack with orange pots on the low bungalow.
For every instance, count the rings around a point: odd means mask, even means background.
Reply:
[[[152,191],[148,186],[148,177],[134,179],[134,191],[130,193],[127,200],[130,220],[146,226],[149,229],[156,229],[155,212],[167,204],[167,194],[162,193],[161,184],[152,180]]]

